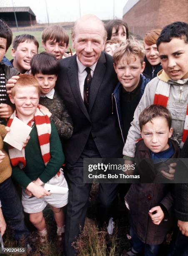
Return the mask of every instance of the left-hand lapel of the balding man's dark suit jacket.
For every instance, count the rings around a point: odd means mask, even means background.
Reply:
[[[81,108],[84,115],[90,120],[89,114],[87,109],[85,108],[85,104],[83,102],[81,93],[80,93],[80,86],[78,81],[78,65],[76,61],[76,54],[73,57],[73,61],[70,62],[69,69],[68,69],[68,79],[70,82],[70,87],[72,89],[73,95],[79,107]]]

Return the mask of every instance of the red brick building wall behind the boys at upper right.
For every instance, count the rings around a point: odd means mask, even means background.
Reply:
[[[130,32],[139,36],[153,28],[163,28],[174,21],[188,23],[188,0],[128,0],[123,20]]]

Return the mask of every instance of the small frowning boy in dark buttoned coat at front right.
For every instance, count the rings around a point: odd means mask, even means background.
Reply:
[[[177,143],[170,139],[173,132],[170,113],[161,105],[150,105],[140,113],[139,125],[143,140],[136,144],[135,158],[141,162],[149,160],[150,167],[145,166],[145,171],[153,174],[155,169],[156,177],[162,176],[159,171],[160,164],[163,164],[162,159],[179,156]],[[153,164],[156,162],[157,167]],[[140,165],[137,166],[137,172],[142,174]],[[158,255],[160,244],[173,227],[173,197],[170,185],[131,185],[125,196],[125,205],[130,210],[130,236],[133,247],[125,255],[134,256],[142,252],[144,255]]]

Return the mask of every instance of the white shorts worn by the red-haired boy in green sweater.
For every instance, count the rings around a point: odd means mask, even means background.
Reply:
[[[48,184],[56,185],[59,187],[68,187],[63,171],[60,169],[60,175],[56,174],[50,179]],[[65,195],[51,194],[42,198],[29,198],[30,196],[25,193],[25,189],[22,189],[22,205],[24,212],[36,213],[44,210],[47,204],[53,207],[63,207],[68,203],[68,192]]]

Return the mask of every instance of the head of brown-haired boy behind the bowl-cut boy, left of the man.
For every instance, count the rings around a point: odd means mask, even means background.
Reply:
[[[65,51],[68,48],[69,36],[60,25],[52,25],[42,32],[42,44],[47,53],[53,54],[56,59],[68,57]]]

